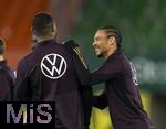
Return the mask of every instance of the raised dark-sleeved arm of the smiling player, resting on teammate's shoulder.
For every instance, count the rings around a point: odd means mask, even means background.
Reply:
[[[69,41],[65,43],[68,49],[72,53],[74,66],[79,76],[79,79],[82,85],[90,86],[106,82],[108,79],[114,78],[121,73],[120,63],[112,62],[105,63],[97,71],[91,73],[86,67],[84,61],[82,60],[82,53],[80,52],[79,45],[74,41]]]

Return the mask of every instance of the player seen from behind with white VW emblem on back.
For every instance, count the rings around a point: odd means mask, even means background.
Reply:
[[[48,13],[32,21],[33,51],[18,65],[15,100],[55,101],[55,129],[85,129],[82,96],[69,51],[55,41]]]

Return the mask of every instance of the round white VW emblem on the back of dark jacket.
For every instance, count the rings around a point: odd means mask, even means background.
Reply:
[[[53,53],[45,55],[40,66],[42,73],[51,79],[60,78],[66,71],[65,60],[61,55]]]

